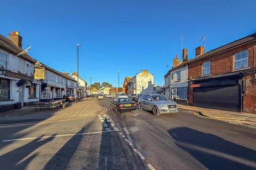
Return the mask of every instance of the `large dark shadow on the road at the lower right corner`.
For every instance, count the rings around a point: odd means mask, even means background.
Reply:
[[[209,169],[255,169],[256,151],[216,135],[181,127],[170,129],[174,143]]]

